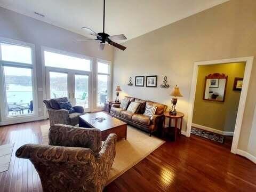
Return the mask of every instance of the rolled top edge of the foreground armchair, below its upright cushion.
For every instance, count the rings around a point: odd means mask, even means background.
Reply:
[[[29,159],[34,165],[46,162],[86,165],[94,158],[93,151],[88,148],[60,147],[39,144],[26,144],[15,153],[18,158]],[[47,163],[46,163],[47,164]]]

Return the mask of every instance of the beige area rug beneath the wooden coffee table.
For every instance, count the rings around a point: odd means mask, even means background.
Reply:
[[[49,125],[41,126],[43,144],[46,145],[48,143],[49,127]],[[139,163],[164,142],[156,137],[149,137],[148,133],[128,125],[127,140],[121,140],[116,143],[116,157],[111,167],[107,184]]]

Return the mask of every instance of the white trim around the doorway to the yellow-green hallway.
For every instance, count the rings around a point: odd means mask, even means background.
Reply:
[[[247,97],[247,91],[249,87],[250,77],[251,77],[251,70],[253,64],[254,57],[243,57],[243,58],[233,58],[233,59],[221,59],[221,60],[212,60],[212,61],[199,61],[194,63],[194,70],[193,70],[193,77],[192,77],[192,84],[191,84],[191,91],[190,91],[190,99],[188,105],[188,124],[187,124],[187,131],[186,136],[190,137],[190,131],[192,126],[192,119],[193,119],[193,110],[194,110],[194,102],[195,102],[195,94],[196,94],[196,84],[197,84],[197,75],[198,75],[198,66],[201,65],[212,65],[212,64],[220,64],[220,63],[234,63],[234,62],[246,62],[245,72],[244,72],[244,81],[243,81],[243,89],[241,92],[241,97],[239,101],[237,117],[236,117],[236,125],[234,131],[234,138],[231,147],[231,153],[237,154],[237,146],[239,135],[241,131],[243,115],[244,115],[244,108],[245,102]]]

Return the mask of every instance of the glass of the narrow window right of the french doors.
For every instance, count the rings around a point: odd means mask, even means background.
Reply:
[[[97,90],[97,107],[104,106],[109,99],[109,75],[110,65],[107,62],[98,61],[98,90]]]

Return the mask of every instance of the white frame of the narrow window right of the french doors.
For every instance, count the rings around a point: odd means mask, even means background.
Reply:
[[[109,66],[108,73],[98,73],[98,62],[107,64]],[[112,63],[111,61],[103,60],[103,59],[96,59],[95,63],[95,108],[96,110],[102,110],[104,106],[98,106],[98,75],[107,75],[108,76],[108,93],[107,93],[107,101],[111,99],[111,93],[112,93],[112,87],[111,87],[111,81],[112,81]]]

